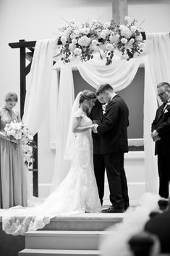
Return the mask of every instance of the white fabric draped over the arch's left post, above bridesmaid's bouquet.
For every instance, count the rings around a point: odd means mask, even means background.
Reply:
[[[46,114],[53,66],[54,40],[37,41],[25,98],[23,121],[35,134]]]

